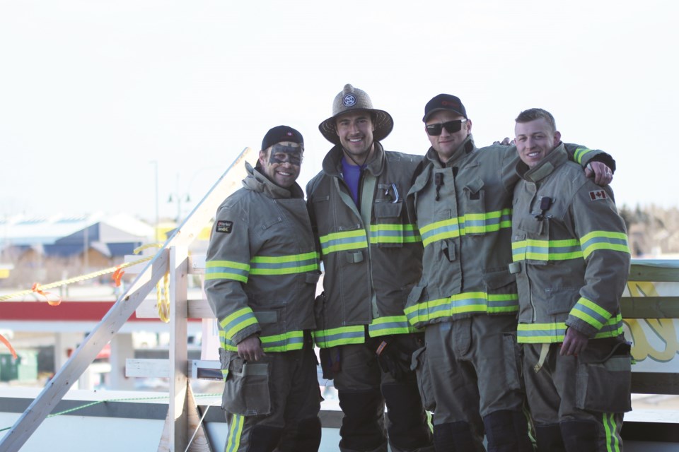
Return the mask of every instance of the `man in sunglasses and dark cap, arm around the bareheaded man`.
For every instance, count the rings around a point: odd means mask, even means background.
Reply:
[[[516,353],[516,282],[507,271],[516,149],[476,148],[472,121],[454,95],[431,98],[422,120],[431,148],[407,200],[424,244],[423,273],[405,313],[425,328],[436,451],[483,450],[483,431],[489,451],[532,451]],[[569,150],[579,165],[599,157],[613,165],[601,151]],[[593,166],[610,182],[603,163]]]

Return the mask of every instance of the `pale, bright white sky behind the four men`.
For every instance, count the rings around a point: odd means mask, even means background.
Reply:
[[[305,138],[305,186],[346,83],[393,117],[388,150],[426,152],[439,93],[462,99],[479,146],[541,107],[564,141],[615,157],[619,206],[675,207],[678,13],[673,0],[0,0],[0,218],[186,215],[279,124]]]

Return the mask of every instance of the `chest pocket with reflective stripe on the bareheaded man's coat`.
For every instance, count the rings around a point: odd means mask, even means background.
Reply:
[[[518,230],[512,236],[513,261],[526,261],[535,266],[545,266],[550,261],[550,221],[545,218],[523,217],[518,220]]]

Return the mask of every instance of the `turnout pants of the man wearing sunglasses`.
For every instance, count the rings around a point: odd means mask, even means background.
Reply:
[[[533,451],[514,316],[426,326],[436,451]]]

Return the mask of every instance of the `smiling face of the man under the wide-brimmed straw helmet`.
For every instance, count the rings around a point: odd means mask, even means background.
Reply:
[[[361,165],[368,161],[373,150],[373,121],[368,112],[347,112],[335,119],[335,129],[344,153]]]

